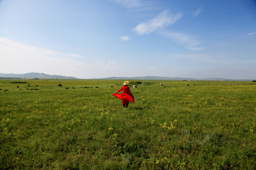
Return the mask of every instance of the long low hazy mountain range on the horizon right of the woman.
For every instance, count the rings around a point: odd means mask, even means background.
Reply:
[[[228,78],[183,78],[183,77],[166,77],[166,76],[140,76],[140,77],[107,77],[107,78],[99,78],[105,80],[224,80],[224,81],[232,81],[235,79]]]

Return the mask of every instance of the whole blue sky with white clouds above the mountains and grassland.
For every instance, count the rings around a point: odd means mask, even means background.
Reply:
[[[256,79],[255,0],[0,0],[0,73]]]

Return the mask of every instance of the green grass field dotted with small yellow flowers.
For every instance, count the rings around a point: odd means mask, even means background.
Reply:
[[[252,82],[143,80],[123,109],[123,80],[16,81],[0,80],[1,170],[256,169]]]

